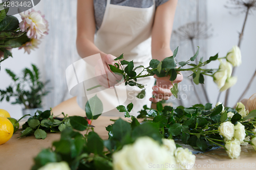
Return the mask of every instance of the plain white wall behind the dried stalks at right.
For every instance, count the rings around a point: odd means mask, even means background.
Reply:
[[[227,9],[227,0],[207,0],[208,23],[214,29],[213,36],[208,40],[208,56],[219,53],[219,56],[225,56],[232,45],[238,44],[238,32],[241,31],[245,13],[238,10]],[[232,12],[232,14],[230,14]],[[242,91],[245,89],[250,78],[256,69],[256,10],[248,16],[245,26],[243,41],[241,43],[242,64],[236,70],[238,82],[230,90],[229,106],[236,104]],[[218,67],[219,62],[211,64],[209,67]],[[246,93],[245,98],[249,98],[256,93],[256,79],[254,79],[251,88]],[[212,79],[207,79],[207,91],[210,96],[210,102],[216,104],[218,89]],[[223,102],[225,93],[222,93],[220,102]]]

